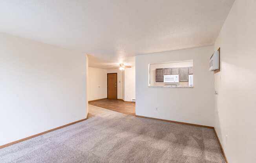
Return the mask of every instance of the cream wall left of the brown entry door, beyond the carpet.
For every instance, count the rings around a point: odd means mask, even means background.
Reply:
[[[88,101],[107,98],[107,70],[89,67]]]

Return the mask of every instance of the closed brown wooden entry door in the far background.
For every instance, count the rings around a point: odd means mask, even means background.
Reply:
[[[108,99],[117,99],[117,73],[108,74]]]

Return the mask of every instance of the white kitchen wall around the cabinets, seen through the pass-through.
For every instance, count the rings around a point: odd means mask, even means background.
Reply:
[[[155,69],[174,67],[193,67],[193,61],[150,64],[150,86],[165,86],[165,83],[163,82],[155,82]],[[188,82],[179,82],[179,85],[187,87],[189,86]]]

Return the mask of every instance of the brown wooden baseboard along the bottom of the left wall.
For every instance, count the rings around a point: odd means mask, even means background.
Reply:
[[[23,138],[23,139],[19,139],[19,140],[13,141],[13,142],[11,142],[11,143],[7,143],[7,144],[4,144],[4,145],[1,145],[1,146],[0,146],[0,149],[5,148],[5,147],[8,147],[8,146],[11,146],[11,145],[14,145],[14,144],[17,144],[17,143],[20,143],[20,142],[22,142],[22,141],[25,141],[25,140],[28,140],[28,139],[31,139],[31,138],[35,138],[35,137],[40,136],[40,135],[43,135],[43,134],[47,134],[48,132],[52,132],[52,131],[54,131],[54,130],[61,129],[61,128],[63,128],[63,127],[67,127],[67,126],[73,125],[73,124],[75,124],[75,123],[79,123],[79,122],[84,121],[84,120],[86,120],[86,119],[87,119],[87,118],[84,118],[84,119],[78,120],[78,121],[74,121],[74,122],[68,123],[68,124],[66,124],[66,125],[63,125],[63,126],[60,126],[60,127],[56,127],[56,128],[54,128],[54,129],[46,130],[46,131],[44,131],[44,132],[40,132],[40,133],[38,133],[38,134],[29,136],[29,137],[26,137],[26,138]]]

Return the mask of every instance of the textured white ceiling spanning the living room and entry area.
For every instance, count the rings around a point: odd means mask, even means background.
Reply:
[[[0,31],[90,54],[92,67],[212,45],[234,0],[1,0]]]

